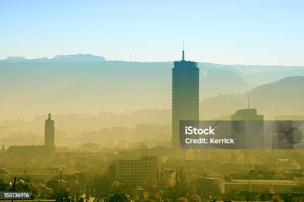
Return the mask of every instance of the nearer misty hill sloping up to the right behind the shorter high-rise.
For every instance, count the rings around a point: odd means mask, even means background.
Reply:
[[[264,84],[246,94],[219,95],[200,103],[200,118],[210,119],[233,114],[236,110],[250,107],[257,108],[258,114],[266,119],[274,119],[278,114],[304,115],[304,77],[294,76]]]

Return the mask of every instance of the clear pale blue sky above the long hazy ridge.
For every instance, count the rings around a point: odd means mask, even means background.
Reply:
[[[1,0],[0,59],[304,65],[303,0]]]

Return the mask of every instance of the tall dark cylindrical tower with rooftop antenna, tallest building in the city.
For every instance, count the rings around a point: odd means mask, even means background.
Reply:
[[[199,68],[197,62],[175,61],[172,68],[172,147],[179,147],[179,121],[199,120]]]

